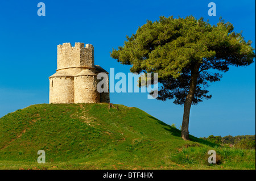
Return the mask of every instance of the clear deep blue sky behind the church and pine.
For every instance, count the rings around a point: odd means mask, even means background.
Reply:
[[[38,3],[46,16],[38,16]],[[217,16],[208,15],[208,3],[216,3]],[[243,31],[255,48],[255,1],[0,1],[0,117],[9,112],[48,103],[48,77],[57,66],[57,45],[93,44],[95,64],[115,73],[129,73],[130,66],[110,57],[146,20],[159,16],[209,19],[220,16]],[[255,62],[246,68],[230,68],[220,82],[209,87],[212,99],[192,106],[189,132],[197,137],[255,134]],[[183,107],[147,99],[146,93],[110,93],[112,103],[138,107],[167,124],[180,128]]]

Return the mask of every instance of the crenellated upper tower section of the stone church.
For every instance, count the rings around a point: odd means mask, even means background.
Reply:
[[[57,69],[69,68],[74,66],[94,67],[94,47],[91,44],[63,43],[57,45]]]

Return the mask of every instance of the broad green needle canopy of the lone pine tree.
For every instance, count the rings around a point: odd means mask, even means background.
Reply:
[[[193,104],[210,99],[208,83],[220,81],[216,71],[228,71],[229,65],[246,66],[255,57],[251,41],[233,31],[231,23],[220,20],[217,25],[193,16],[174,19],[161,16],[159,21],[139,27],[127,36],[123,47],[113,49],[111,56],[135,73],[158,73],[159,100],[174,99],[184,104],[195,75]]]

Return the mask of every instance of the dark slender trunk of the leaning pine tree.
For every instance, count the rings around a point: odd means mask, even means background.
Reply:
[[[190,108],[193,102],[193,98],[196,92],[196,82],[199,74],[198,73],[199,68],[200,68],[200,65],[194,65],[193,68],[191,69],[189,91],[184,103],[183,121],[181,125],[181,137],[183,138],[183,140],[189,140],[189,132],[188,132],[189,114],[190,114]]]

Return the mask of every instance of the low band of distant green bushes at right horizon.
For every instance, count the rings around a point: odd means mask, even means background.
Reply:
[[[241,149],[255,149],[255,135],[242,135],[242,136],[213,136],[203,137],[203,140]]]

